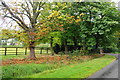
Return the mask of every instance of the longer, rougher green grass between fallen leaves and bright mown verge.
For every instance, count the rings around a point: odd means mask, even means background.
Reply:
[[[35,73],[40,73],[45,70],[55,69],[56,66],[52,64],[16,64],[2,66],[2,77],[3,78],[13,78],[25,75],[31,75]]]

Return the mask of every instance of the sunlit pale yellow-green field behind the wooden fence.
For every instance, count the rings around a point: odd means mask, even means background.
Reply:
[[[2,48],[3,47],[3,48]],[[7,47],[7,51],[6,51],[6,55],[16,55],[16,47],[18,47],[17,45],[6,45],[6,46],[2,46],[2,47],[0,47],[0,53],[2,54],[2,55],[5,55],[5,47]],[[39,45],[37,45],[37,47],[38,48],[36,48],[35,49],[35,53],[36,54],[50,54],[51,53],[51,51],[48,49],[48,52],[47,52],[47,49],[46,48],[49,48],[50,47],[50,45],[49,44],[39,44]],[[41,51],[41,48],[42,48],[42,51]],[[18,55],[25,55],[25,52],[26,52],[26,54],[27,53],[29,53],[30,51],[29,51],[29,49],[27,48],[27,50],[26,50],[26,48],[23,48],[22,46],[19,46],[18,48],[17,48],[17,54]]]

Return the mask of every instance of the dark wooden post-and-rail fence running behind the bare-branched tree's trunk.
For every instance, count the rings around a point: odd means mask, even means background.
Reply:
[[[8,50],[8,48],[14,48],[15,50]],[[19,52],[18,49],[19,48],[23,48],[23,52]],[[3,50],[4,49],[4,50]],[[25,55],[27,55],[27,51],[28,51],[29,48],[24,48],[24,47],[0,47],[0,51],[3,51],[4,52],[4,55],[8,55],[7,52],[8,51],[15,51],[15,52],[8,52],[8,53],[15,53],[15,54],[12,54],[12,55],[18,55],[18,53],[24,53]],[[39,50],[39,54],[42,54],[43,53],[43,50],[46,50],[45,53],[48,54],[49,50],[50,50],[50,47],[35,47],[35,50]],[[2,54],[3,54],[2,52]]]

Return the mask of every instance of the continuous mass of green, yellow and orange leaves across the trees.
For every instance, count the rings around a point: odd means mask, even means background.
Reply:
[[[112,2],[46,3],[37,18],[36,31],[30,32],[29,36],[34,36],[34,39],[29,39],[28,33],[24,31],[13,31],[9,36],[14,35],[27,46],[30,41],[35,41],[35,46],[50,43],[53,37],[53,46],[69,41],[75,46],[81,45],[87,52],[117,43],[118,38],[116,40],[113,34],[119,30],[119,16],[120,13]]]

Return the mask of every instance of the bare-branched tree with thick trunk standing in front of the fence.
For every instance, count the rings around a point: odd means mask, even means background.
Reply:
[[[27,44],[30,49],[30,55],[28,58],[35,59],[35,38],[37,33],[36,26],[38,23],[38,17],[44,8],[44,2],[34,2],[34,0],[25,0],[23,2],[14,2],[8,5],[6,2],[1,1],[2,13],[4,17],[10,18],[15,21],[20,28],[26,33]]]

